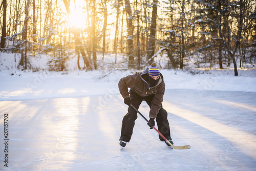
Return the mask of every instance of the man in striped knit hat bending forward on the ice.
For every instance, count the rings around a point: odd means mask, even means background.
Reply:
[[[155,119],[157,122],[158,130],[163,136],[172,144],[170,138],[170,127],[167,120],[167,112],[163,109],[162,101],[165,91],[165,83],[163,75],[160,73],[155,62],[151,64],[150,68],[145,69],[143,72],[136,72],[133,75],[123,77],[118,82],[120,94],[124,98],[124,103],[129,105],[128,113],[124,115],[122,120],[122,129],[120,136],[120,145],[124,147],[130,142],[135,120],[137,119],[137,112],[130,106],[133,104],[136,109],[143,100],[150,106],[150,123],[148,125],[151,129],[155,126]],[[130,88],[130,93],[128,88]],[[159,135],[160,141],[165,140]],[[165,142],[166,143],[166,142]],[[168,143],[166,145],[169,146]]]

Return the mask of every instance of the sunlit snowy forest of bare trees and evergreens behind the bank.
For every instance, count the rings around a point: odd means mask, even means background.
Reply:
[[[3,0],[0,16],[1,52],[16,55],[19,70],[42,54],[51,71],[74,57],[79,70],[97,70],[108,54],[129,69],[159,55],[168,69],[190,62],[237,76],[256,65],[254,0]]]

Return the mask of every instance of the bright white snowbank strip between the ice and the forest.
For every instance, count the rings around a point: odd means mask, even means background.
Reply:
[[[120,78],[136,71],[115,70],[99,63],[97,71],[47,71],[48,56],[31,58],[31,63],[40,70],[20,71],[16,69],[18,56],[0,53],[0,100],[41,99],[58,97],[85,97],[93,95],[119,94]],[[105,61],[111,62],[106,57]],[[39,62],[40,61],[40,62]],[[69,61],[75,69],[75,59]],[[166,89],[191,89],[203,94],[205,91],[256,92],[256,69],[223,70],[167,70],[161,69]]]

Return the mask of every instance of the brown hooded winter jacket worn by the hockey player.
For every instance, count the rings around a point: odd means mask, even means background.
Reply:
[[[129,97],[128,88],[131,88],[132,91],[141,97],[155,94],[151,104],[150,117],[156,118],[163,101],[165,83],[162,74],[160,74],[157,86],[150,87],[150,84],[144,79],[147,77],[146,74],[148,74],[148,68],[143,72],[136,72],[133,75],[123,77],[118,82],[118,88],[123,98]]]

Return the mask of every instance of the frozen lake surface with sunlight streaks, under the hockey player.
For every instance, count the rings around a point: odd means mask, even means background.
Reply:
[[[116,91],[0,101],[0,129],[8,113],[9,131],[8,168],[1,145],[1,170],[256,170],[255,92],[169,89],[163,108],[174,144],[190,149],[166,147],[138,116],[120,150],[127,106]],[[145,102],[139,111],[148,117]]]

